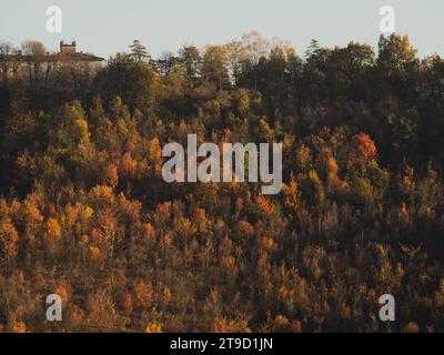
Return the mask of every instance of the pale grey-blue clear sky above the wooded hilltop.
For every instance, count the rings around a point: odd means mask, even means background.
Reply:
[[[62,32],[47,31],[49,6],[62,10]],[[2,0],[0,41],[42,41],[50,51],[75,40],[78,50],[108,58],[139,39],[154,55],[183,44],[223,44],[259,31],[290,41],[303,54],[357,41],[376,47],[380,8],[395,10],[396,32],[408,34],[421,57],[444,57],[443,0]]]

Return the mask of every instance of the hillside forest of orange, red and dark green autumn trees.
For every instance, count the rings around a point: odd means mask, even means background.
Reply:
[[[46,75],[28,48],[16,68],[0,44],[1,329],[444,331],[438,55],[397,34],[297,55],[253,32]],[[186,134],[282,142],[282,193],[164,183]]]

